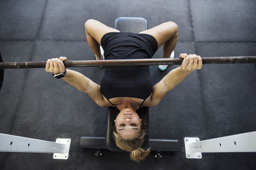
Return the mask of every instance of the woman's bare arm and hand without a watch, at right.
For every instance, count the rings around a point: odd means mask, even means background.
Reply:
[[[187,55],[181,53],[180,58],[184,59],[180,67],[170,71],[164,78],[154,86],[148,107],[156,106],[167,92],[183,81],[192,71],[202,68],[202,59],[199,55]]]

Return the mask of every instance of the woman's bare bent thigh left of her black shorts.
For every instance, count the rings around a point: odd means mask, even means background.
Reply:
[[[108,27],[105,24],[97,20],[87,20],[84,24],[86,34],[92,36],[99,44],[102,36],[107,34],[108,32],[120,32],[117,29],[113,29],[112,27]]]

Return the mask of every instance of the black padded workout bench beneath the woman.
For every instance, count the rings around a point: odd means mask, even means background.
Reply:
[[[141,32],[147,29],[147,20],[141,17],[119,17],[115,20],[115,29],[122,32]],[[101,149],[108,149],[113,152],[125,152],[116,146],[115,140],[113,139],[114,120],[118,113],[118,109],[109,107],[106,137],[81,137],[80,146],[82,148],[95,148],[97,150],[95,153],[97,157],[102,155]],[[156,151],[156,157],[159,159],[162,157],[162,151],[175,152],[178,150],[178,140],[149,138],[148,108],[141,108],[138,110],[138,114],[144,122],[144,129],[146,132],[144,143],[141,148],[144,150],[150,148],[150,150]]]

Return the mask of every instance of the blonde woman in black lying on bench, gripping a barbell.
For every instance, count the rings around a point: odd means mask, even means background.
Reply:
[[[178,38],[178,26],[174,22],[165,22],[140,33],[120,32],[92,19],[84,26],[88,45],[97,60],[150,59],[161,45],[163,58],[169,58]],[[104,53],[100,52],[101,46]],[[116,145],[131,152],[131,159],[138,161],[148,155],[149,149],[140,148],[145,131],[141,129],[136,110],[142,106],[156,106],[189,73],[202,68],[202,59],[198,55],[181,53],[179,57],[184,59],[180,67],[170,71],[156,85],[150,78],[149,66],[106,67],[100,85],[81,73],[66,69],[63,64],[66,57],[47,60],[45,70],[58,74],[57,78],[87,93],[99,106],[118,108],[120,113],[115,120],[113,135]],[[167,66],[159,68],[164,70]]]

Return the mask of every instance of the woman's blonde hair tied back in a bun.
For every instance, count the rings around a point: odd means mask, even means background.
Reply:
[[[139,162],[139,160],[145,159],[148,153],[150,152],[150,148],[147,150],[143,150],[140,148],[144,142],[145,131],[141,129],[138,138],[134,139],[124,139],[117,132],[114,127],[113,137],[116,142],[116,146],[122,150],[126,150],[130,153],[130,157],[132,160]]]

